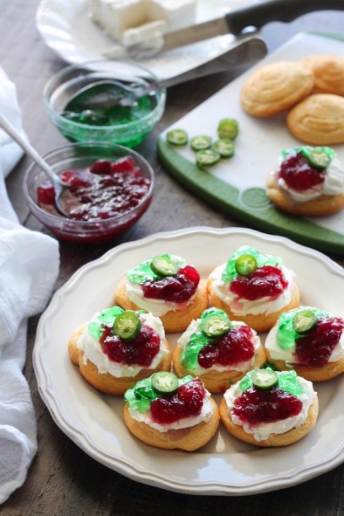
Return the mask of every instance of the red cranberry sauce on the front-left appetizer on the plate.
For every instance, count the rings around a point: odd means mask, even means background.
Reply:
[[[155,423],[170,424],[201,413],[206,391],[198,378],[178,387],[173,396],[155,398],[151,402],[151,416]]]

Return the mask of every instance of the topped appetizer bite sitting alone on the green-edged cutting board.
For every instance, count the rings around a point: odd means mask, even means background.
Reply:
[[[278,208],[297,215],[331,215],[344,207],[344,168],[330,147],[282,151],[266,193]]]

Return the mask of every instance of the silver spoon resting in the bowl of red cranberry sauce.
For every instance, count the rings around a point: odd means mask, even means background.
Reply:
[[[6,133],[8,133],[13,140],[15,140],[21,148],[27,153],[36,164],[38,164],[41,169],[49,176],[50,180],[52,181],[52,185],[54,186],[54,192],[55,192],[55,203],[56,208],[61,215],[65,215],[65,217],[68,217],[68,213],[63,209],[63,206],[61,204],[61,195],[65,190],[68,189],[68,186],[63,183],[61,178],[56,174],[56,172],[52,169],[52,167],[47,164],[45,160],[39,155],[39,153],[32,147],[32,145],[27,142],[21,134],[13,127],[13,125],[9,122],[9,120],[3,116],[3,114],[0,113],[0,127]]]

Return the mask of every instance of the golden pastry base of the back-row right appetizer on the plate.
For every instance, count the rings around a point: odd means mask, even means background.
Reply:
[[[287,312],[288,310],[292,310],[292,308],[297,308],[300,304],[300,292],[299,288],[296,283],[294,283],[292,288],[292,297],[290,299],[290,302],[288,305],[281,308],[281,310],[278,310],[277,312],[272,312],[271,314],[265,315],[265,314],[246,314],[246,315],[235,315],[230,310],[230,306],[222,301],[222,299],[219,299],[215,292],[213,291],[213,280],[211,278],[208,278],[208,293],[211,300],[211,306],[215,306],[216,308],[220,308],[221,310],[224,310],[229,316],[229,318],[232,321],[243,321],[245,324],[253,328],[253,330],[256,330],[256,332],[268,332],[272,328],[272,326],[276,323],[277,319],[281,315],[282,312]]]

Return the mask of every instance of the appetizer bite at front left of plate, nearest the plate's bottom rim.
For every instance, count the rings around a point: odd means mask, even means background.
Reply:
[[[125,424],[138,439],[157,448],[194,451],[219,427],[219,409],[202,382],[192,376],[155,373],[125,393]]]

